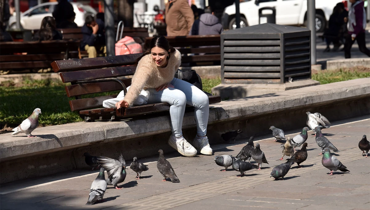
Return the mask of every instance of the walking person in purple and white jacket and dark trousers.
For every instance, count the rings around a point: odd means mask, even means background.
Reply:
[[[344,57],[351,58],[351,48],[355,40],[359,45],[361,52],[370,57],[370,50],[366,48],[365,27],[366,27],[366,12],[364,2],[362,0],[350,0],[352,3],[348,12],[348,34],[346,43],[344,44]]]

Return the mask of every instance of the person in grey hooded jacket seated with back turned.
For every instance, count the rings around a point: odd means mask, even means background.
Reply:
[[[189,35],[217,35],[223,31],[222,24],[218,18],[213,15],[211,7],[206,7],[204,13],[201,14],[199,19],[194,21]]]

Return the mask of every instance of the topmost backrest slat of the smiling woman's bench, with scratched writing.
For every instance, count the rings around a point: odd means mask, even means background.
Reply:
[[[55,72],[81,71],[96,68],[108,68],[134,64],[142,53],[122,56],[108,56],[87,59],[58,60],[51,63]]]

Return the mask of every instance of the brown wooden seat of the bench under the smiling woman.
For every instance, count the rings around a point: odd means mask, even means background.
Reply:
[[[221,102],[221,96],[209,96],[209,104]],[[168,111],[170,105],[168,103],[145,104],[142,106],[132,106],[126,109],[116,110],[115,108],[100,108],[80,111],[81,115],[99,116],[115,112],[118,117],[130,117],[139,114],[156,113],[160,111]],[[191,107],[186,105],[186,107]],[[113,115],[113,114],[112,114]]]

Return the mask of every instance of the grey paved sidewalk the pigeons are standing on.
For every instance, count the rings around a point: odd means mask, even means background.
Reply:
[[[286,137],[293,137],[297,132],[299,130],[287,131]],[[363,134],[370,137],[369,116],[332,122],[332,127],[323,133],[340,150],[336,157],[350,173],[326,174],[329,170],[322,166],[319,147],[309,131],[309,156],[301,164],[305,167],[298,169],[294,164],[285,180],[273,181],[269,177],[273,166],[283,163],[279,161],[281,143],[275,143],[270,135],[258,136],[255,144],[260,144],[269,164],[241,178],[236,177],[239,173],[232,169],[222,172],[222,167],[214,163],[214,156],[179,157],[171,153],[165,157],[180,183],[161,181],[163,177],[156,166],[158,156],[155,156],[139,160],[149,165],[149,171],[142,173],[143,179],[134,180],[136,173],[128,169],[122,183],[124,189],[110,187],[103,203],[85,206],[97,171],[81,170],[2,184],[0,209],[369,209],[370,158],[362,157],[358,148]],[[215,155],[236,155],[246,141],[212,145],[212,148]],[[131,161],[127,160],[127,165]]]

